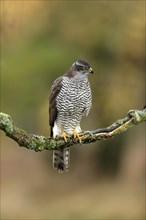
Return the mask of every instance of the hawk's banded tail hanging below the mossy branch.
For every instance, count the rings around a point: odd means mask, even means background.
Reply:
[[[53,150],[53,168],[59,173],[68,171],[70,160],[70,148]]]

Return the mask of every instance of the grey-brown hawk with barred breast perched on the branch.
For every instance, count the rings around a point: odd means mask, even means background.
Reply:
[[[73,135],[81,142],[80,122],[87,116],[92,105],[91,88],[88,75],[93,73],[89,63],[78,60],[61,77],[57,78],[49,96],[50,136],[62,136],[67,141]],[[68,171],[70,149],[53,151],[53,167],[58,172]]]

